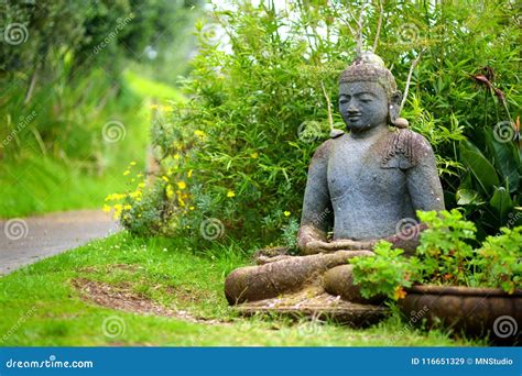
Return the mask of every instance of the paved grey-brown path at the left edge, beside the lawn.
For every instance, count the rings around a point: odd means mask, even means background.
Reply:
[[[119,231],[99,210],[0,220],[0,275]]]

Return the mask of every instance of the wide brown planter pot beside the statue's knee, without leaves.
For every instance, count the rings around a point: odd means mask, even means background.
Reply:
[[[457,334],[489,338],[496,343],[514,344],[522,340],[522,290],[509,295],[497,288],[421,285],[406,289],[400,300],[403,314],[412,323],[439,322]]]

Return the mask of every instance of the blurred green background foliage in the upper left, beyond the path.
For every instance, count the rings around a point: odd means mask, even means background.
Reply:
[[[184,38],[183,31],[191,24],[187,12],[184,4],[164,0],[7,1],[0,5],[4,40],[0,44],[0,85],[4,87],[0,159],[17,158],[32,148],[57,159],[90,163],[93,168],[104,165],[109,157],[100,137],[104,124],[119,121],[126,128],[132,121],[123,120],[140,111],[141,98],[127,87],[123,65],[133,62],[143,74],[145,46],[159,54],[151,63],[155,70],[161,59],[161,64],[172,64],[163,49]],[[180,58],[186,56],[180,54]],[[170,66],[171,76],[162,79],[173,80],[185,71],[186,65],[175,65],[180,69]],[[33,112],[35,117],[25,122]],[[15,142],[4,143],[8,137]]]

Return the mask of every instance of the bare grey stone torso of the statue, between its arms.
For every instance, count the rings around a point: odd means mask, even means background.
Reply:
[[[392,235],[403,218],[414,218],[406,187],[409,161],[387,161],[395,134],[356,140],[344,134],[331,145],[327,181],[334,209],[334,239],[370,240]],[[402,167],[402,168],[401,168]]]

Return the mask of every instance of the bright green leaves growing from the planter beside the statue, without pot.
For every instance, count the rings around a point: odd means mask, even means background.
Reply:
[[[503,228],[474,250],[476,228],[452,211],[417,212],[427,229],[421,234],[416,255],[406,257],[400,248],[380,242],[373,257],[354,257],[354,281],[363,297],[404,297],[413,284],[502,288],[512,294],[522,288],[522,226]]]

